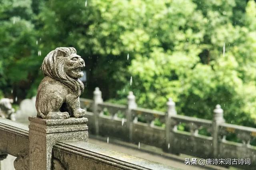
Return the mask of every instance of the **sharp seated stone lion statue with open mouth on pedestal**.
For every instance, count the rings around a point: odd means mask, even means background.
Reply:
[[[79,96],[84,84],[79,80],[84,74],[84,60],[73,47],[59,47],[51,51],[42,63],[44,79],[36,96],[37,116],[43,119],[83,117]]]

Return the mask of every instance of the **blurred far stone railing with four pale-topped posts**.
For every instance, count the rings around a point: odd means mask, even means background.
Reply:
[[[251,165],[232,166],[256,166],[256,129],[225,123],[220,105],[214,109],[211,121],[177,115],[172,99],[166,104],[166,112],[138,108],[132,92],[127,101],[127,105],[103,102],[99,88],[94,91],[94,100],[81,98],[90,133],[205,159],[246,158]],[[180,126],[185,129],[180,130]],[[239,140],[229,141],[226,137],[230,136]]]

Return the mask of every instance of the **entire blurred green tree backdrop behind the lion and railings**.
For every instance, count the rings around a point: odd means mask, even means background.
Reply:
[[[1,0],[0,98],[36,95],[44,57],[75,47],[84,98],[256,127],[254,0]]]

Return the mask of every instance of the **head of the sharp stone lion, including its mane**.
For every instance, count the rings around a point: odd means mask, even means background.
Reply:
[[[59,47],[51,51],[43,61],[41,69],[45,76],[54,78],[73,91],[84,91],[84,84],[79,80],[84,75],[84,60],[76,54],[73,47]]]

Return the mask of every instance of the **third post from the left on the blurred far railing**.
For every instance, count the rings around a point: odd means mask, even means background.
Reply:
[[[172,141],[173,138],[171,137],[171,116],[177,115],[176,109],[175,109],[175,103],[172,101],[172,98],[169,98],[167,105],[167,113],[166,113],[166,119],[165,119],[165,138],[166,138],[166,145],[164,150],[166,152],[170,152],[170,147],[172,147]]]

